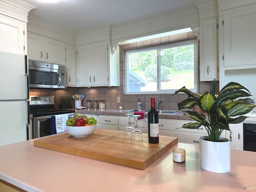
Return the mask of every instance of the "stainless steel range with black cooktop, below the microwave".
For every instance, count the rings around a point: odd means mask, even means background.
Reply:
[[[55,115],[74,116],[74,110],[56,110],[54,96],[30,96],[30,114],[33,115],[32,135],[34,138],[56,134]]]

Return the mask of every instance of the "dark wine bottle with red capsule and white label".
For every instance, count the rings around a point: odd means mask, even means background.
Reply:
[[[151,108],[148,111],[148,142],[159,143],[158,111],[155,109],[154,97],[151,97]]]

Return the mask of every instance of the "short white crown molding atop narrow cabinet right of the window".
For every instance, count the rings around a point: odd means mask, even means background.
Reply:
[[[200,0],[194,3],[199,11],[199,19],[219,16],[217,0]]]

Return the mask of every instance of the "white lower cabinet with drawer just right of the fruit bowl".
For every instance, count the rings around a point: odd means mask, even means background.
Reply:
[[[118,130],[118,116],[99,115],[97,128]]]

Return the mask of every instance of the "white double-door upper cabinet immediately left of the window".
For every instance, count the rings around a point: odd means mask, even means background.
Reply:
[[[112,54],[108,44],[101,41],[78,46],[77,86],[119,86],[119,52]]]

